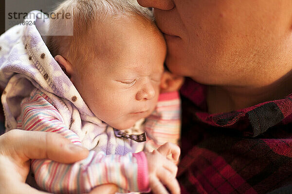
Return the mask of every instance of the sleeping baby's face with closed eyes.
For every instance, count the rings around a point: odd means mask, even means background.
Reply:
[[[137,19],[119,19],[101,28],[104,34],[97,35],[99,30],[95,35],[98,59],[74,71],[71,79],[98,118],[113,128],[127,129],[156,106],[164,38]]]

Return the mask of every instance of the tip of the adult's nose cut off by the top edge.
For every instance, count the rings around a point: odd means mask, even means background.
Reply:
[[[143,7],[153,7],[162,10],[171,10],[175,7],[173,0],[137,0]]]

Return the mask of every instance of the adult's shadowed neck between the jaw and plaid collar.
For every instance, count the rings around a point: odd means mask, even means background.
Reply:
[[[291,93],[292,76],[285,76],[268,86],[208,86],[208,112],[235,111],[261,102],[280,99]]]

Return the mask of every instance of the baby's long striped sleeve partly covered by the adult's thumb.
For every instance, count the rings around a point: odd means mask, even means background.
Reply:
[[[21,103],[18,128],[56,132],[81,145],[79,137],[66,128],[62,116],[50,99],[35,90]],[[51,160],[33,160],[32,170],[38,186],[50,193],[89,193],[94,187],[114,183],[120,193],[148,191],[148,168],[144,152],[125,156],[91,151],[89,156],[73,164]]]

